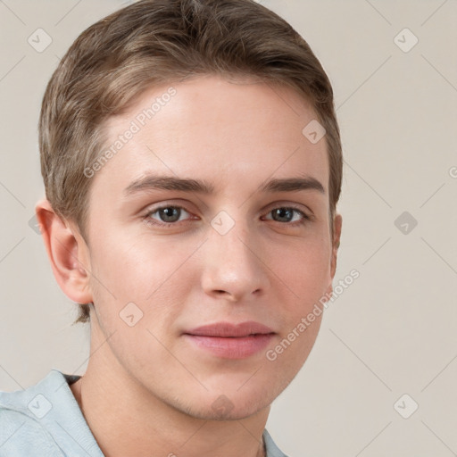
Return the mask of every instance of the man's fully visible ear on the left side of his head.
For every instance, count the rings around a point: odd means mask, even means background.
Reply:
[[[37,203],[35,212],[54,277],[63,293],[76,303],[92,302],[89,251],[79,230],[62,220],[46,199]]]

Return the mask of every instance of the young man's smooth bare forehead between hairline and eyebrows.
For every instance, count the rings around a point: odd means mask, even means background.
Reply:
[[[312,143],[303,135],[315,120],[302,96],[270,83],[206,76],[151,87],[106,122],[105,149],[115,154],[96,180],[119,192],[154,171],[199,177],[227,192],[242,183],[306,174],[327,194],[325,137]]]

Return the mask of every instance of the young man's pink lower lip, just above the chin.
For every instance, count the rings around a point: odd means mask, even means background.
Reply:
[[[262,351],[274,334],[249,335],[248,337],[202,337],[189,335],[185,337],[198,347],[224,359],[246,359],[254,353]]]

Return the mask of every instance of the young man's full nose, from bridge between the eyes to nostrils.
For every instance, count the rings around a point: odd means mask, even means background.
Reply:
[[[210,223],[202,279],[205,291],[209,294],[223,291],[239,300],[243,295],[264,289],[267,277],[256,253],[253,227],[244,213],[237,211],[236,220],[227,211],[221,211]]]

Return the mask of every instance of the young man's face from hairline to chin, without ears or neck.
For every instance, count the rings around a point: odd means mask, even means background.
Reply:
[[[285,87],[172,87],[106,125],[107,147],[129,139],[90,178],[92,333],[138,391],[240,419],[295,377],[320,328],[303,318],[335,273],[325,140],[303,136],[316,115]]]

